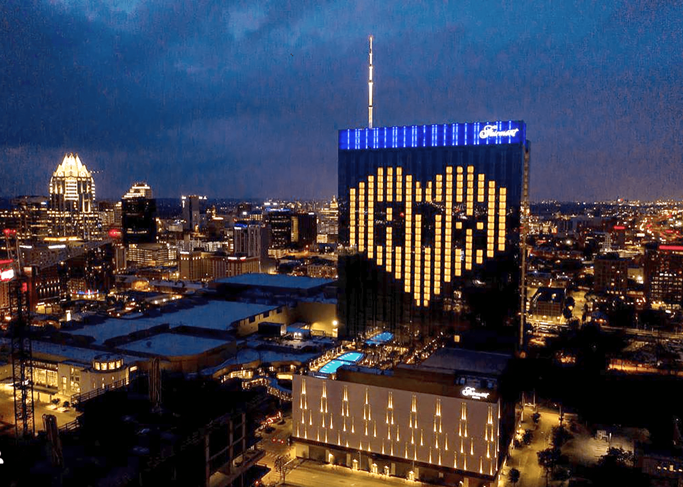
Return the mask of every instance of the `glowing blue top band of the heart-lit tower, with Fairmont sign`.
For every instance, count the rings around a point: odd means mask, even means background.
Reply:
[[[520,144],[526,138],[527,124],[513,120],[352,128],[339,130],[339,150]]]

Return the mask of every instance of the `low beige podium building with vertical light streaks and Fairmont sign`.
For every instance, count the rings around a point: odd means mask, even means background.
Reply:
[[[493,486],[514,431],[514,402],[499,388],[508,359],[440,349],[419,366],[295,375],[296,456],[423,482]]]

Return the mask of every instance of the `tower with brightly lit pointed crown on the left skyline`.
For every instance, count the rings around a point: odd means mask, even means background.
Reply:
[[[51,237],[94,237],[98,231],[95,182],[78,154],[68,153],[50,179]]]

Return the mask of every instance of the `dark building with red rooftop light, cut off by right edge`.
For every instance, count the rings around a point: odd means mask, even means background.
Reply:
[[[683,306],[683,244],[645,245],[645,299],[653,308]]]

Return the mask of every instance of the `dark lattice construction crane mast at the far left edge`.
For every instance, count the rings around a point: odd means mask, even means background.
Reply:
[[[28,319],[31,310],[28,302],[28,282],[21,266],[16,230],[5,228],[3,234],[5,235],[8,262],[13,264],[12,272],[5,274],[5,280],[10,281],[10,313],[16,310],[16,314],[12,313],[14,316],[10,321],[14,428],[17,439],[31,438],[36,434],[36,424],[33,417],[33,351],[30,334],[31,325]]]

